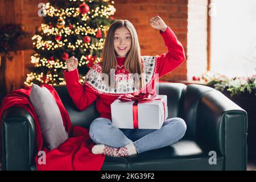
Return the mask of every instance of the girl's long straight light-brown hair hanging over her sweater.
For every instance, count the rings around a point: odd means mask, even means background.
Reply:
[[[143,88],[145,80],[141,62],[141,48],[139,47],[137,32],[129,20],[116,20],[110,25],[101,55],[101,73],[108,75],[109,80],[105,81],[108,81],[107,84],[110,85],[110,69],[117,69],[117,59],[114,50],[114,33],[117,28],[121,27],[126,27],[131,34],[131,48],[127,53],[124,67],[129,73],[138,73],[140,77],[139,82],[135,82],[135,84],[137,84],[136,88]]]

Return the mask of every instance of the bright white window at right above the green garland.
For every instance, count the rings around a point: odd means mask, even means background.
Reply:
[[[229,77],[256,74],[256,1],[212,0],[211,71]]]

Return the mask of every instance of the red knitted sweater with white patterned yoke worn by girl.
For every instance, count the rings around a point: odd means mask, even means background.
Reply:
[[[159,34],[163,37],[168,52],[160,56],[141,56],[142,67],[146,76],[146,86],[152,88],[150,93],[155,93],[157,76],[166,75],[185,60],[183,46],[177,40],[171,28],[168,27],[164,32],[159,30]],[[119,96],[125,93],[144,93],[145,90],[149,92],[146,87],[140,90],[134,88],[132,76],[130,77],[129,72],[123,67],[125,59],[126,57],[117,57],[119,67],[115,70],[115,89],[108,87],[101,81],[100,63],[94,64],[92,69],[89,70],[85,76],[84,84],[79,82],[79,72],[77,69],[71,72],[65,70],[64,76],[68,93],[77,106],[77,109],[84,110],[92,102],[96,101],[96,109],[100,113],[100,117],[112,120],[110,105]]]

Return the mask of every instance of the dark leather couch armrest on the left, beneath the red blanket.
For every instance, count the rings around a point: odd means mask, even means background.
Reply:
[[[36,153],[34,118],[22,107],[10,107],[1,120],[2,169],[29,170]]]

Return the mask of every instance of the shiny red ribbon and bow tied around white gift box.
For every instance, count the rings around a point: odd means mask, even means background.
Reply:
[[[139,94],[125,94],[118,98],[118,100],[122,102],[130,102],[135,101],[133,103],[133,127],[134,129],[139,128],[139,122],[138,122],[138,104],[143,102],[151,102],[154,100],[162,100],[162,98],[156,98],[156,94],[152,93],[139,93]],[[164,119],[166,119],[166,105],[163,102],[163,108],[164,108]]]

